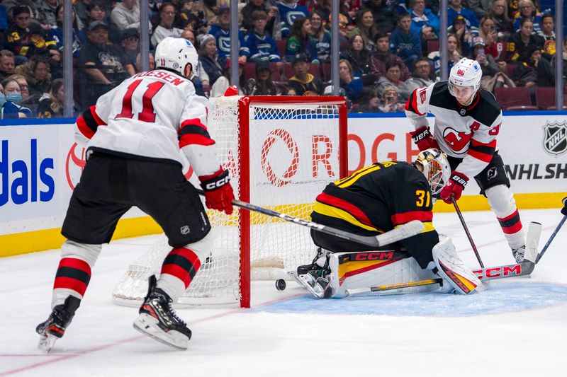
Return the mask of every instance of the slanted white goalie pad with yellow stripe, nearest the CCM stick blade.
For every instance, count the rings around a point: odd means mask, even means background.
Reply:
[[[448,282],[459,294],[470,294],[473,291],[483,291],[484,286],[476,275],[466,267],[451,238],[444,238],[432,250],[433,261],[437,274]]]

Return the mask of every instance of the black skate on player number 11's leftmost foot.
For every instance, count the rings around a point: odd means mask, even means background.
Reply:
[[[79,308],[81,300],[75,296],[65,298],[62,305],[56,305],[53,308],[49,318],[45,322],[35,327],[35,331],[40,335],[38,348],[43,352],[50,352],[55,341],[60,339],[65,333],[65,329],[71,323],[75,315],[75,311]]]

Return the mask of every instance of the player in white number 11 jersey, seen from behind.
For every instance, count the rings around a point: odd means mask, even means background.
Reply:
[[[186,349],[191,338],[172,302],[194,279],[212,243],[207,214],[184,178],[179,150],[201,180],[208,208],[232,213],[234,194],[207,131],[208,100],[195,94],[190,81],[198,63],[195,47],[167,37],[157,46],[155,60],[155,70],[126,79],[77,118],[86,165],[62,226],[67,240],[52,313],[36,329],[46,352],[79,307],[101,244],[111,240],[118,219],[133,206],[162,226],[172,246],[159,279],[150,278],[134,327],[178,349]]]

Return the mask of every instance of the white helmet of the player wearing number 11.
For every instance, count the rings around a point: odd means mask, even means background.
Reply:
[[[191,76],[197,67],[199,56],[189,40],[166,37],[155,49],[155,67],[167,68],[184,75],[185,66],[191,64]],[[191,79],[191,77],[189,77]]]

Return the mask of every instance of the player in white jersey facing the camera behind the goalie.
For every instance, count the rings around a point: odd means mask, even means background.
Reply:
[[[502,110],[492,93],[480,89],[481,66],[461,59],[451,68],[448,81],[417,88],[405,104],[405,115],[415,126],[412,138],[420,151],[439,148],[447,153],[451,180],[439,193],[444,202],[458,200],[468,180],[474,178],[488,199],[517,263],[524,260],[522,222],[496,138]],[[430,132],[427,113],[435,116]]]

